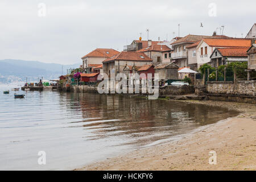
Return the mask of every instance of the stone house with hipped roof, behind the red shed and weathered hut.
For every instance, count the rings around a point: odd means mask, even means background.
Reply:
[[[169,48],[168,46],[151,45],[151,46],[141,49],[138,52],[144,52],[148,57],[150,57],[150,59],[153,60],[153,64],[158,65],[158,64],[162,63],[162,61],[163,61],[163,53],[162,52],[166,52],[166,53],[164,53],[164,55],[168,56],[168,55],[170,55],[167,53],[169,51],[171,51],[171,48]],[[167,59],[167,57],[166,57],[166,59]]]

